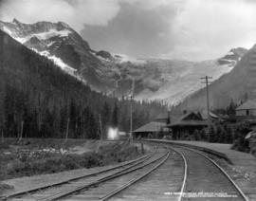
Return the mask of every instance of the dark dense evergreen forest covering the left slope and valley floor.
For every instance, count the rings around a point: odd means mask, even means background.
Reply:
[[[134,128],[166,112],[134,101]],[[97,138],[108,125],[129,131],[130,101],[110,98],[65,74],[0,30],[0,126],[5,137]]]

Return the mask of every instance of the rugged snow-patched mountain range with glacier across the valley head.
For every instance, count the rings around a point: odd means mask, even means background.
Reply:
[[[170,104],[202,88],[201,77],[210,75],[215,80],[228,73],[240,60],[232,54],[239,52],[243,56],[238,48],[239,51],[230,50],[221,59],[204,62],[137,59],[95,51],[79,33],[62,22],[24,24],[14,19],[10,23],[0,21],[0,29],[94,90],[118,97],[134,93],[137,100],[158,99]]]

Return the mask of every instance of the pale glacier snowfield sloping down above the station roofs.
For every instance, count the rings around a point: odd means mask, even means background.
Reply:
[[[217,80],[223,74],[229,73],[232,67],[228,65],[217,65],[215,61],[204,62],[200,65],[183,65],[172,67],[166,66],[162,69],[165,82],[157,91],[143,90],[136,96],[137,100],[164,100],[171,105],[175,105],[184,100],[200,88],[205,87],[200,78],[206,75]],[[167,71],[172,70],[173,73]]]

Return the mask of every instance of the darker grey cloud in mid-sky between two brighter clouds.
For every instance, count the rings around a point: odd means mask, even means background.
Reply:
[[[94,49],[139,58],[158,57],[159,53],[169,51],[172,37],[167,29],[175,10],[157,5],[158,1],[147,1],[147,4],[140,0],[121,5],[118,15],[108,26],[85,26],[83,38]]]

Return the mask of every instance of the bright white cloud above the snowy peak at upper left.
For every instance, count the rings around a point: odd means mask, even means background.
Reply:
[[[3,0],[0,18],[25,23],[63,21],[76,30],[83,25],[106,26],[119,12],[119,0]]]

